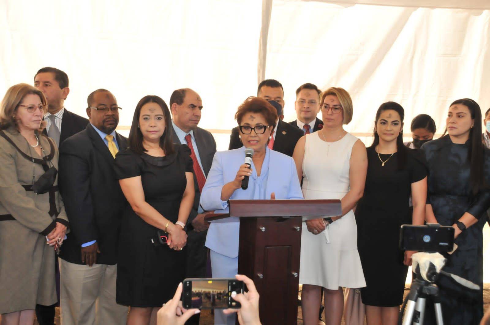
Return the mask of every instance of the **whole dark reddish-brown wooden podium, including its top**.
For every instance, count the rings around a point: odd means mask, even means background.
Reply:
[[[340,200],[229,200],[229,208],[205,220],[239,218],[238,273],[257,287],[262,324],[296,324],[302,220],[341,215]]]

